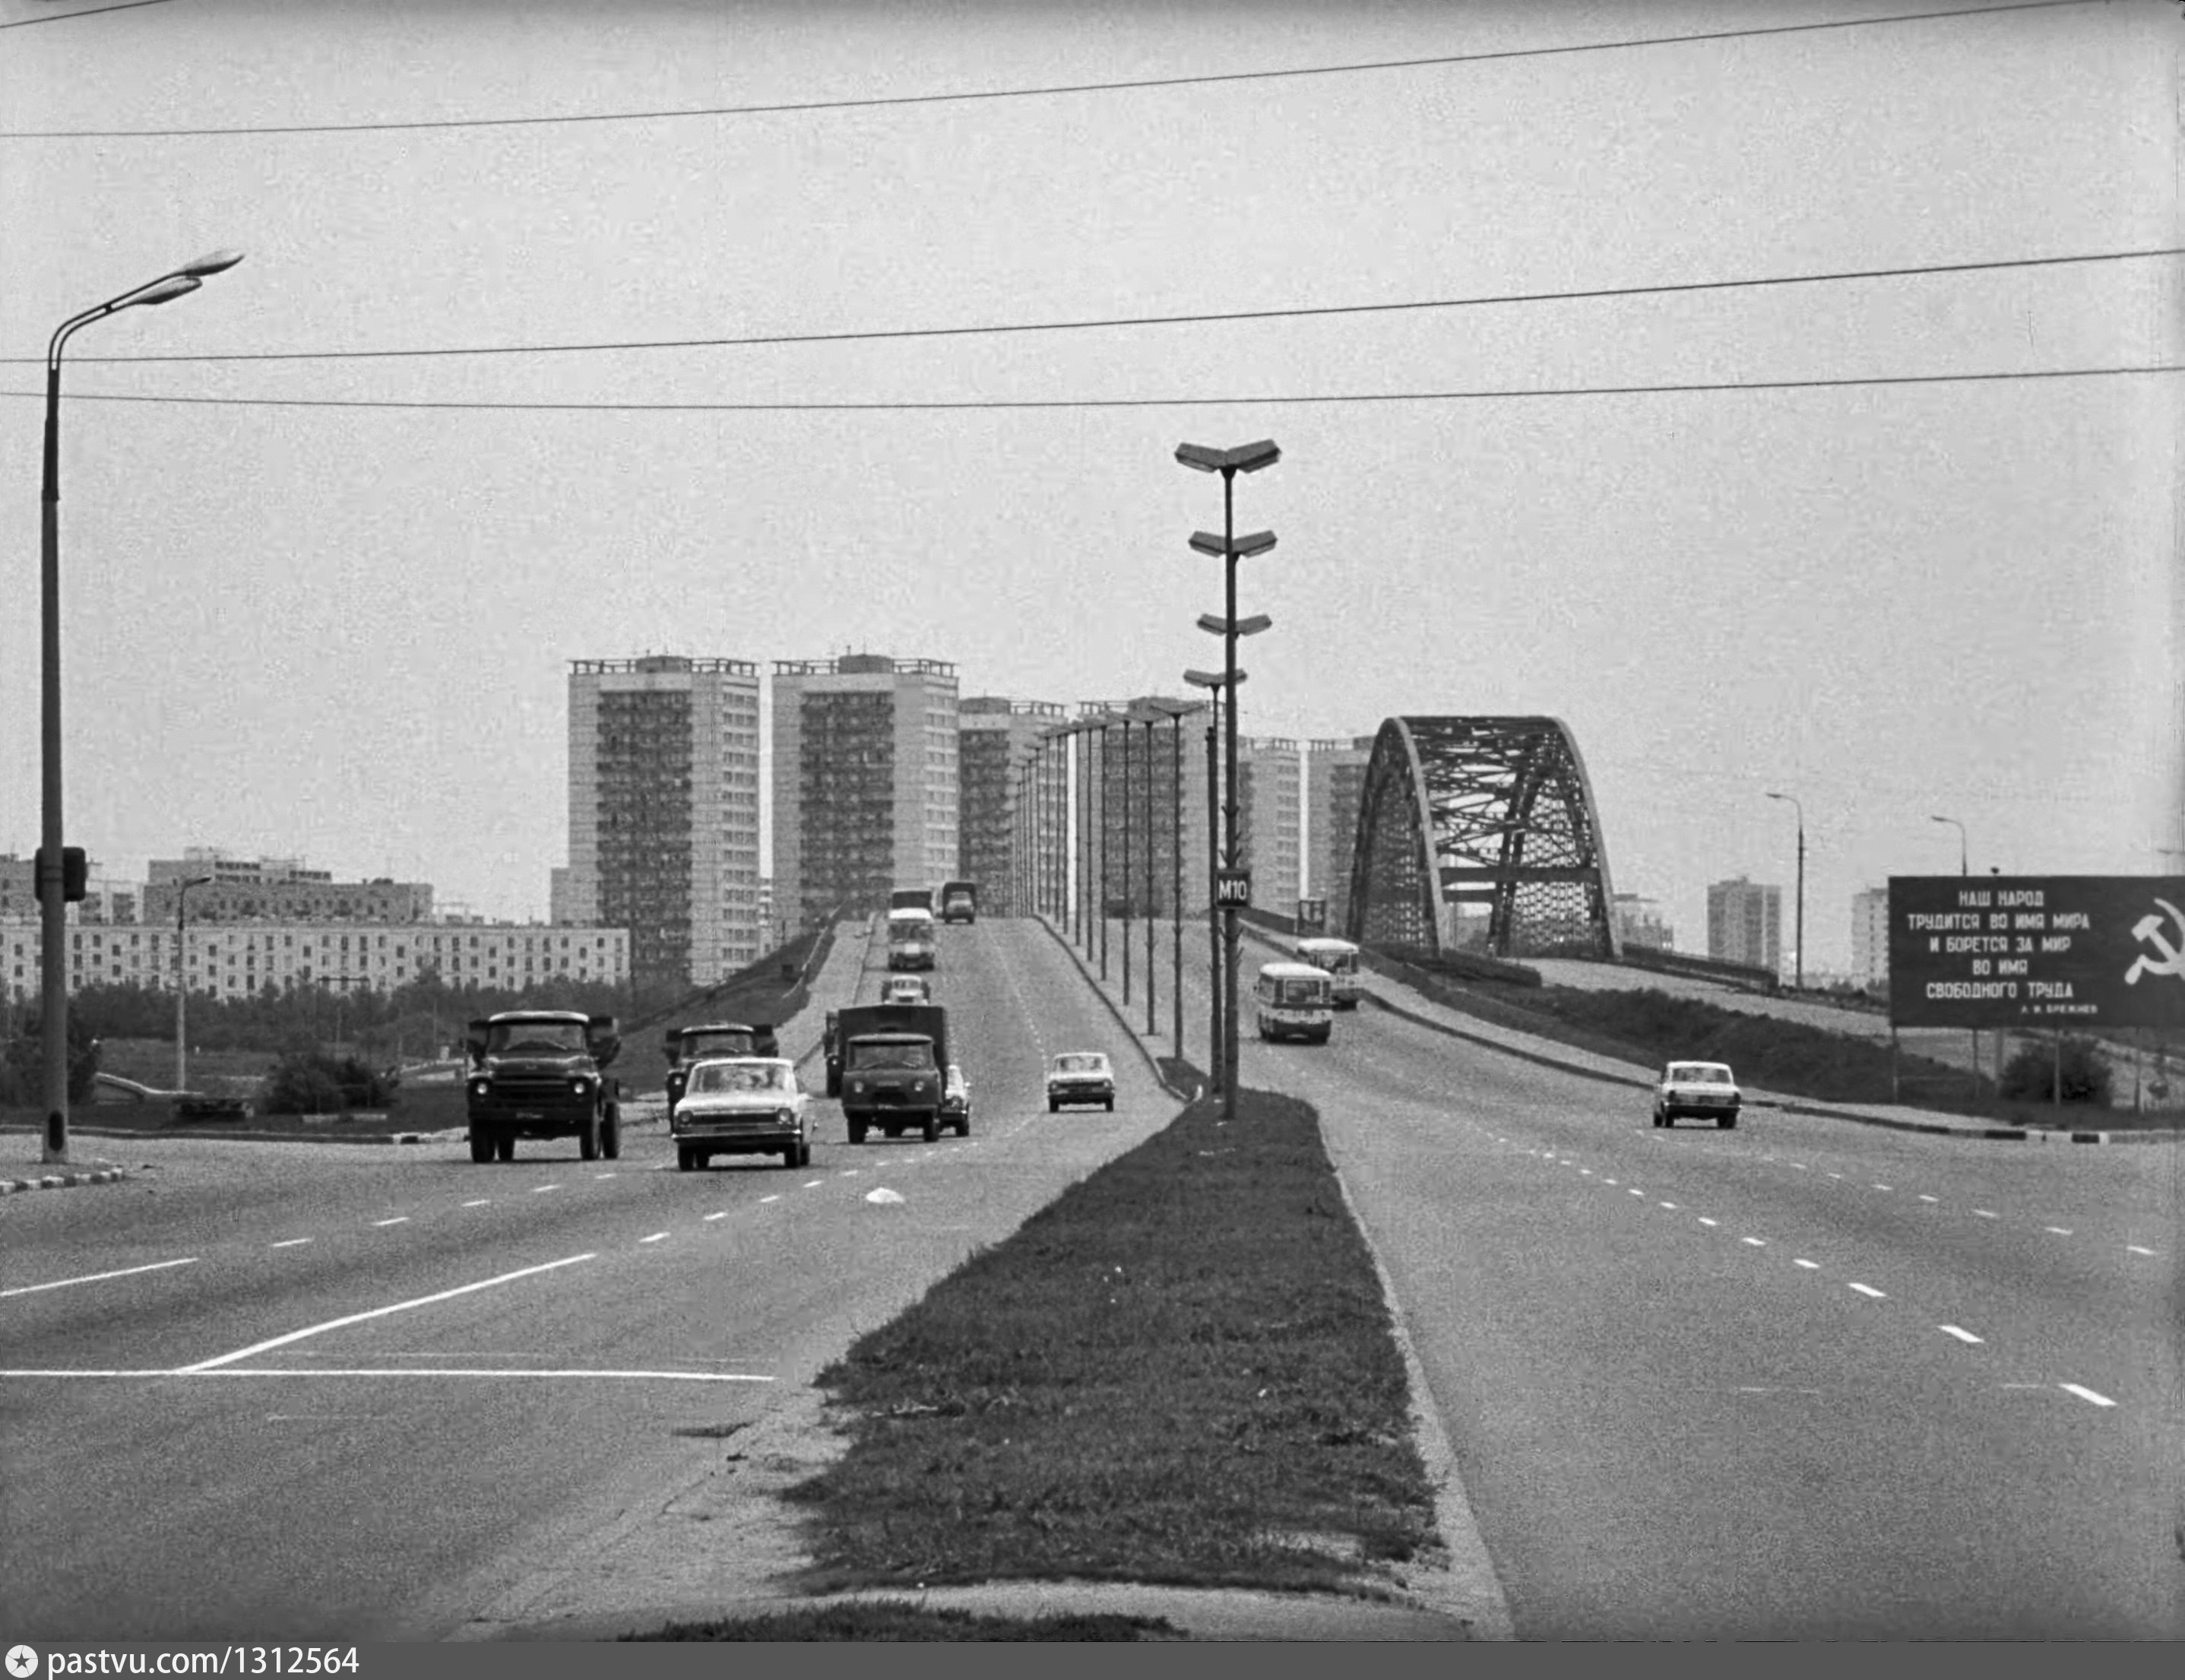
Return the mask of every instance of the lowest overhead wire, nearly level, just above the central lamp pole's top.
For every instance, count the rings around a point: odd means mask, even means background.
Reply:
[[[2128,374],[2185,374],[2185,363],[2139,367],[2036,367],[2006,374],[1868,374],[1827,380],[1693,380],[1680,384],[1549,384],[1536,389],[1479,391],[1289,391],[1283,395],[1226,398],[964,398],[922,402],[468,402],[457,398],[186,398],[122,395],[114,391],[70,391],[70,402],[179,402],[203,409],[461,409],[479,413],[662,413],[662,415],[767,415],[767,413],[944,413],[1007,409],[1256,409],[1276,404],[1339,402],[1521,402],[1527,398],[1637,398],[1687,395],[1700,391],[1838,391],[1881,384],[1995,384],[2004,380],[2084,380]],[[0,391],[0,398],[37,398],[42,391]]]

